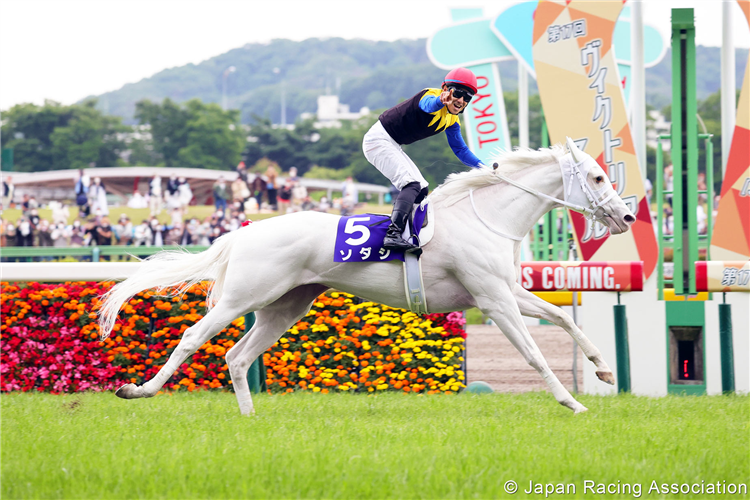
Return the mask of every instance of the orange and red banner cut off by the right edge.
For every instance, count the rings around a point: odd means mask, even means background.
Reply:
[[[750,28],[750,0],[737,0]],[[750,56],[711,237],[712,260],[750,260]]]

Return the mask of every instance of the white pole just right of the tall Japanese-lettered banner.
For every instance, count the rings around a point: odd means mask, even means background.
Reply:
[[[646,68],[643,55],[643,3],[634,1],[630,7],[630,121],[633,146],[641,176],[646,178]]]

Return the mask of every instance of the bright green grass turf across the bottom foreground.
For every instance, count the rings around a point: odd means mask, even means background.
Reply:
[[[547,393],[263,394],[248,418],[231,393],[4,394],[0,498],[544,498],[523,493],[531,480],[661,498],[651,481],[750,482],[746,396],[579,399],[589,412]]]

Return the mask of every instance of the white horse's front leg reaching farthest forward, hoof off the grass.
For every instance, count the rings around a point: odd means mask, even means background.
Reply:
[[[564,328],[580,346],[583,354],[594,363],[594,365],[596,365],[596,376],[599,377],[599,380],[610,385],[615,383],[615,376],[604,361],[602,353],[594,343],[583,334],[581,329],[573,322],[573,318],[566,314],[565,311],[543,299],[540,299],[533,293],[524,289],[518,283],[516,283],[516,286],[513,288],[513,295],[516,297],[516,302],[518,302],[518,308],[521,310],[521,314],[531,318],[545,319],[550,323],[554,323],[555,325]]]

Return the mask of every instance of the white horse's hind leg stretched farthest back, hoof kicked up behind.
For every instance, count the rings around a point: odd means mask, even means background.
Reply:
[[[180,343],[154,378],[142,386],[125,384],[117,389],[115,394],[124,399],[154,396],[188,356],[197,351],[200,346],[223,330],[229,323],[247,312],[248,307],[245,304],[247,302],[230,300],[229,298],[220,299],[203,319],[185,330]]]

